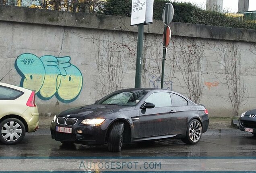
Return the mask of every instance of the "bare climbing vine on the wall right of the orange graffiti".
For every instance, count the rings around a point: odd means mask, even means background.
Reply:
[[[241,70],[241,50],[236,42],[221,42],[214,49],[219,57],[217,63],[223,69],[223,73],[215,73],[215,76],[227,87],[227,98],[220,94],[219,97],[231,103],[233,115],[238,116],[240,107],[248,100],[248,91]]]

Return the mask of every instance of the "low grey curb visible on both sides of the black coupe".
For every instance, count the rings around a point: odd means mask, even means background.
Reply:
[[[208,129],[203,135],[245,135],[249,132],[240,131],[239,129]],[[50,129],[38,129],[36,132],[27,133],[27,135],[51,135]]]

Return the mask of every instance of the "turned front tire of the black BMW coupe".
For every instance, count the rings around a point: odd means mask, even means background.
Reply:
[[[109,133],[108,150],[111,152],[120,152],[123,144],[124,123],[115,122]]]

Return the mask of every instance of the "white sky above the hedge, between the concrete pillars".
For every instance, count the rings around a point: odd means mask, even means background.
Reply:
[[[196,6],[205,9],[206,0],[175,0],[176,2],[190,2]],[[238,8],[238,0],[223,0],[223,10],[236,13]],[[256,10],[256,0],[249,0],[249,11]]]

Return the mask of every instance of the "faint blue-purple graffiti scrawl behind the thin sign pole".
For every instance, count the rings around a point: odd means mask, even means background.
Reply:
[[[150,88],[155,88],[155,89],[160,89],[161,88],[161,77],[157,77],[155,75],[149,74],[149,87]],[[172,90],[172,81],[163,81],[163,88]]]

